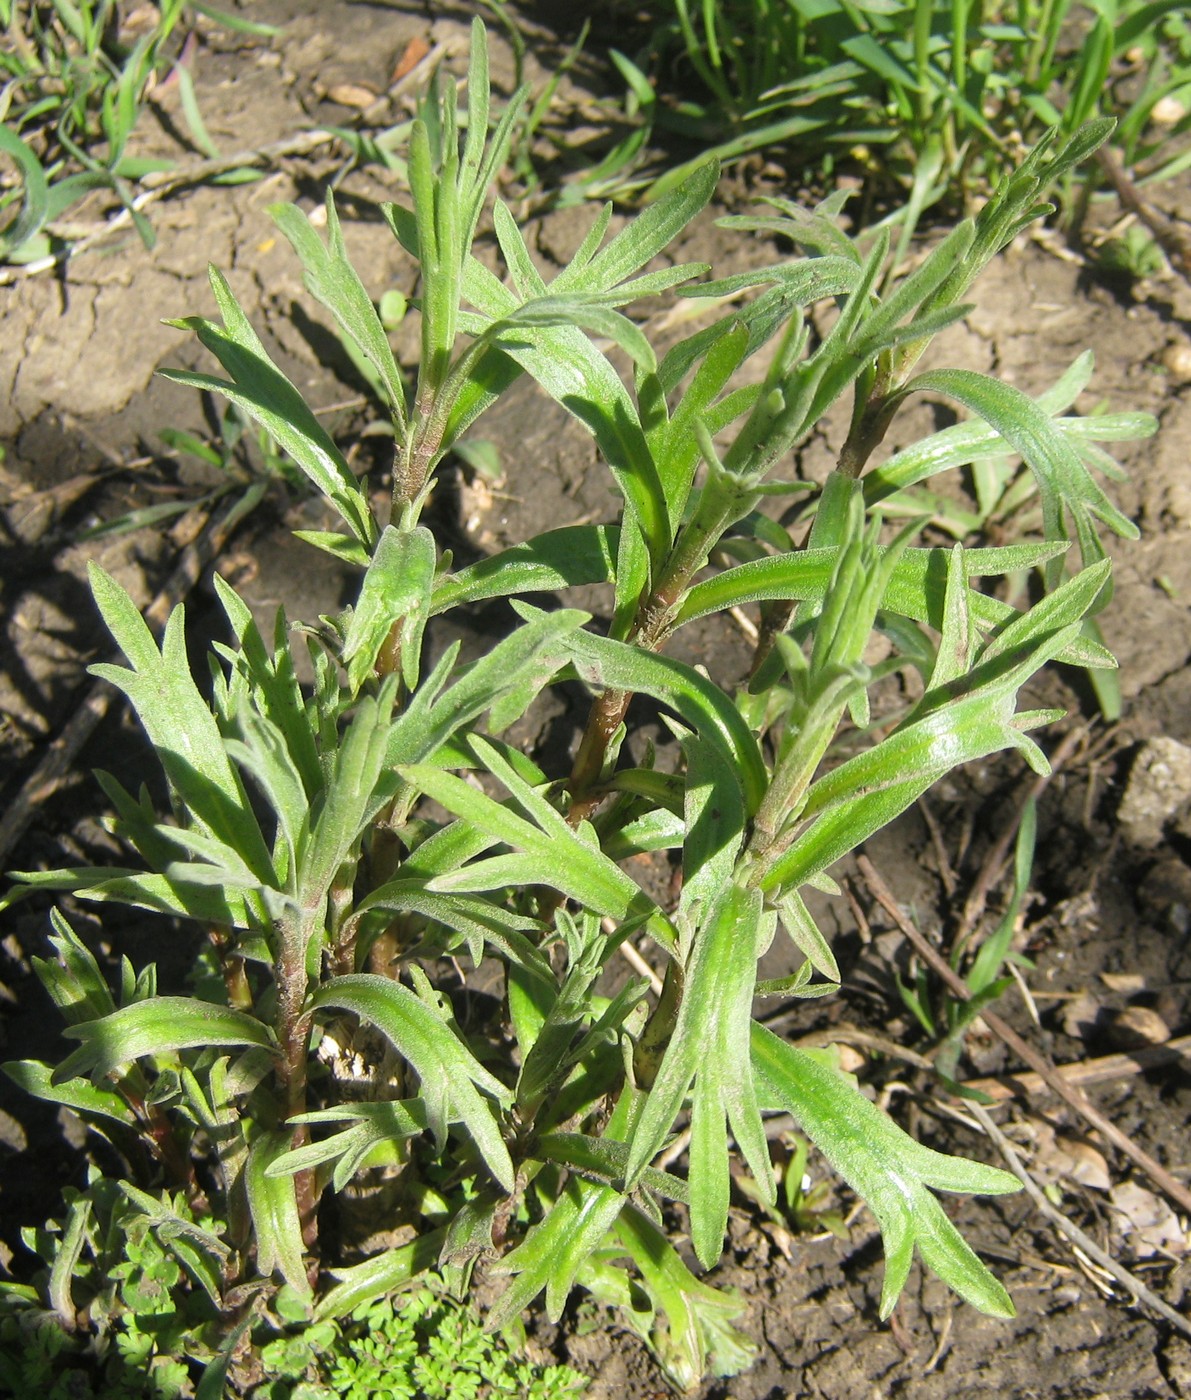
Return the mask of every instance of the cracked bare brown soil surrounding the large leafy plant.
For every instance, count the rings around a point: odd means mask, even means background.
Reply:
[[[563,7],[553,28],[542,8],[522,11],[526,76],[540,87],[575,38],[579,10]],[[245,39],[211,29],[195,57],[200,108],[216,143],[237,151],[284,141],[312,123],[348,125],[355,112],[336,105],[348,84],[382,92],[396,62],[414,41],[444,43],[456,69],[466,48],[470,6],[353,4],[347,0],[260,0],[252,17],[283,24],[279,38]],[[508,90],[512,57],[494,36],[494,77]],[[577,127],[582,147],[592,102],[619,92],[603,50],[592,43],[560,90],[556,120]],[[390,116],[389,120],[396,120]],[[147,151],[193,160],[179,147],[185,132],[176,91],[158,94],[139,140]],[[375,167],[344,171],[343,148],[326,146],[279,158],[255,185],[195,185],[151,210],[157,246],[147,252],[130,231],[70,260],[57,273],[17,277],[0,286],[0,441],[4,445],[0,529],[0,769],[7,795],[36,762],[85,693],[83,668],[106,650],[84,582],[87,559],[99,559],[148,602],[185,543],[185,525],[141,529],[115,539],[78,533],[129,508],[185,501],[211,486],[211,473],[172,459],[157,438],[162,427],[211,430],[211,405],[192,391],[154,378],[158,365],[197,367],[196,342],[162,318],[213,314],[206,266],[230,277],[279,364],[323,412],[330,431],[350,445],[353,461],[383,490],[383,440],[369,435],[371,410],[350,363],[319,308],[305,294],[295,258],[269,220],[267,206],[297,199],[312,207],[329,179],[337,181],[348,248],[374,295],[416,290],[414,272],[379,218],[381,200],[399,197],[396,175]],[[743,207],[756,193],[781,189],[780,167],[760,164],[725,182],[677,251],[705,259],[717,274],[775,256],[764,244],[715,227],[715,217]],[[1191,185],[1164,188],[1159,202],[1191,217]],[[97,202],[97,221],[111,210]],[[539,214],[521,210],[530,246],[543,266],[564,262],[592,210]],[[1096,211],[1093,211],[1096,213]],[[1111,218],[1106,207],[1097,217]],[[977,284],[978,305],[967,325],[949,333],[936,357],[998,374],[1026,391],[1051,384],[1085,347],[1096,351],[1096,377],[1079,407],[1143,409],[1160,420],[1156,438],[1122,444],[1129,479],[1114,487],[1136,519],[1138,543],[1113,542],[1115,598],[1103,616],[1121,662],[1124,715],[1106,727],[1086,683],[1075,675],[1047,682],[1047,703],[1069,710],[1066,729],[1086,736],[1045,788],[1040,805],[1034,892],[1020,945],[1034,960],[1027,973],[1040,1015],[1033,1025],[1020,997],[1006,997],[1006,1015],[1058,1063],[1121,1049],[1120,1012],[1145,1008],[1174,1036],[1191,1026],[1191,288],[1174,274],[1131,286],[1106,280],[1055,234],[1015,246]],[[668,305],[655,321],[670,318]],[[661,326],[665,333],[665,326]],[[402,332],[406,335],[406,332]],[[400,343],[400,336],[399,336]],[[404,358],[411,346],[404,344]],[[919,405],[898,421],[889,449],[946,421]],[[827,424],[803,451],[796,470],[820,477],[838,448],[838,424]],[[584,430],[521,384],[484,419],[497,444],[504,482],[490,489],[462,472],[449,477],[437,504],[456,556],[466,560],[540,529],[605,519],[609,483]],[[291,616],[311,617],[341,606],[347,581],[287,528],[309,524],[309,508],[276,491],[239,532],[220,567],[245,596],[270,613],[283,602]],[[596,616],[607,599],[584,599]],[[196,638],[211,612],[206,582],[188,608]],[[483,648],[508,619],[477,615],[467,644]],[[214,626],[214,623],[213,623]],[[196,647],[200,638],[196,640]],[[724,679],[739,676],[747,644],[721,629],[683,634],[682,654]],[[196,657],[199,652],[196,651]],[[585,715],[578,692],[536,711],[521,735],[539,753],[575,742]],[[641,732],[662,731],[641,715]],[[1054,748],[1061,728],[1047,742]],[[1155,748],[1155,742],[1157,748]],[[111,860],[99,825],[102,798],[87,776],[94,766],[137,778],[143,748],[129,721],[113,713],[91,742],[78,773],[48,797],[8,864],[35,868]],[[1155,770],[1157,777],[1153,777]],[[148,767],[146,766],[146,771]],[[869,855],[928,937],[943,946],[989,844],[1026,791],[1029,774],[1015,762],[981,766],[929,798],[869,843]],[[812,1002],[782,1021],[796,1037],[879,1033],[914,1046],[919,1035],[897,995],[894,974],[908,967],[901,935],[845,869],[854,904],[836,900],[834,927],[844,990],[829,1005]],[[1003,892],[1002,892],[1003,893]],[[991,916],[999,911],[994,895]],[[108,923],[85,911],[78,927],[105,956],[155,958],[162,979],[181,979],[193,948],[179,935],[169,945],[161,925]],[[4,1053],[57,1053],[56,1025],[29,959],[46,952],[43,909],[8,916],[0,945],[0,1009]],[[767,969],[777,974],[780,967]],[[1115,1039],[1114,1039],[1115,1035]],[[967,1072],[1013,1068],[991,1042],[970,1046]],[[871,1057],[859,1068],[917,1135],[949,1151],[995,1161],[992,1144],[936,1107],[931,1081],[911,1065]],[[1185,1058],[1089,1091],[1096,1103],[1180,1179],[1191,1172]],[[1115,1158],[1094,1133],[1050,1095],[1019,1095],[998,1110],[1006,1131],[1054,1187],[1062,1210],[1113,1250],[1176,1308],[1191,1288],[1187,1221],[1163,1233],[1145,1228],[1148,1205],[1120,1193],[1148,1183]],[[1090,1154],[1086,1151],[1090,1148]],[[20,1273],[28,1263],[22,1225],[57,1210],[63,1184],[77,1183],[95,1144],[45,1105],[0,1081],[0,1250]],[[1099,1173],[1099,1163],[1107,1176]],[[99,1161],[104,1162],[102,1154]],[[1080,1169],[1082,1163],[1082,1169]],[[812,1175],[822,1163],[812,1161]],[[1115,1200],[1115,1205],[1113,1204]],[[1122,1201],[1125,1204],[1122,1204]],[[845,1193],[837,1204],[851,1207]],[[1157,1203],[1156,1203],[1157,1204]],[[915,1271],[889,1324],[878,1320],[880,1246],[865,1212],[850,1219],[847,1239],[827,1232],[792,1233],[767,1222],[743,1196],[732,1217],[731,1246],[715,1270],[718,1284],[747,1301],[743,1322],[759,1344],[756,1366],[710,1382],[707,1397],[1169,1397],[1191,1394],[1191,1344],[1166,1323],[1139,1312],[1031,1208],[1026,1197],[966,1201],[957,1207],[974,1246],[1010,1289],[1019,1316],[1003,1323],[959,1303],[935,1280]],[[1157,1240],[1157,1243],[1155,1243]],[[635,1338],[609,1329],[588,1331],[575,1303],[558,1329],[537,1324],[537,1340],[593,1378],[595,1397],[663,1392],[659,1372]]]

